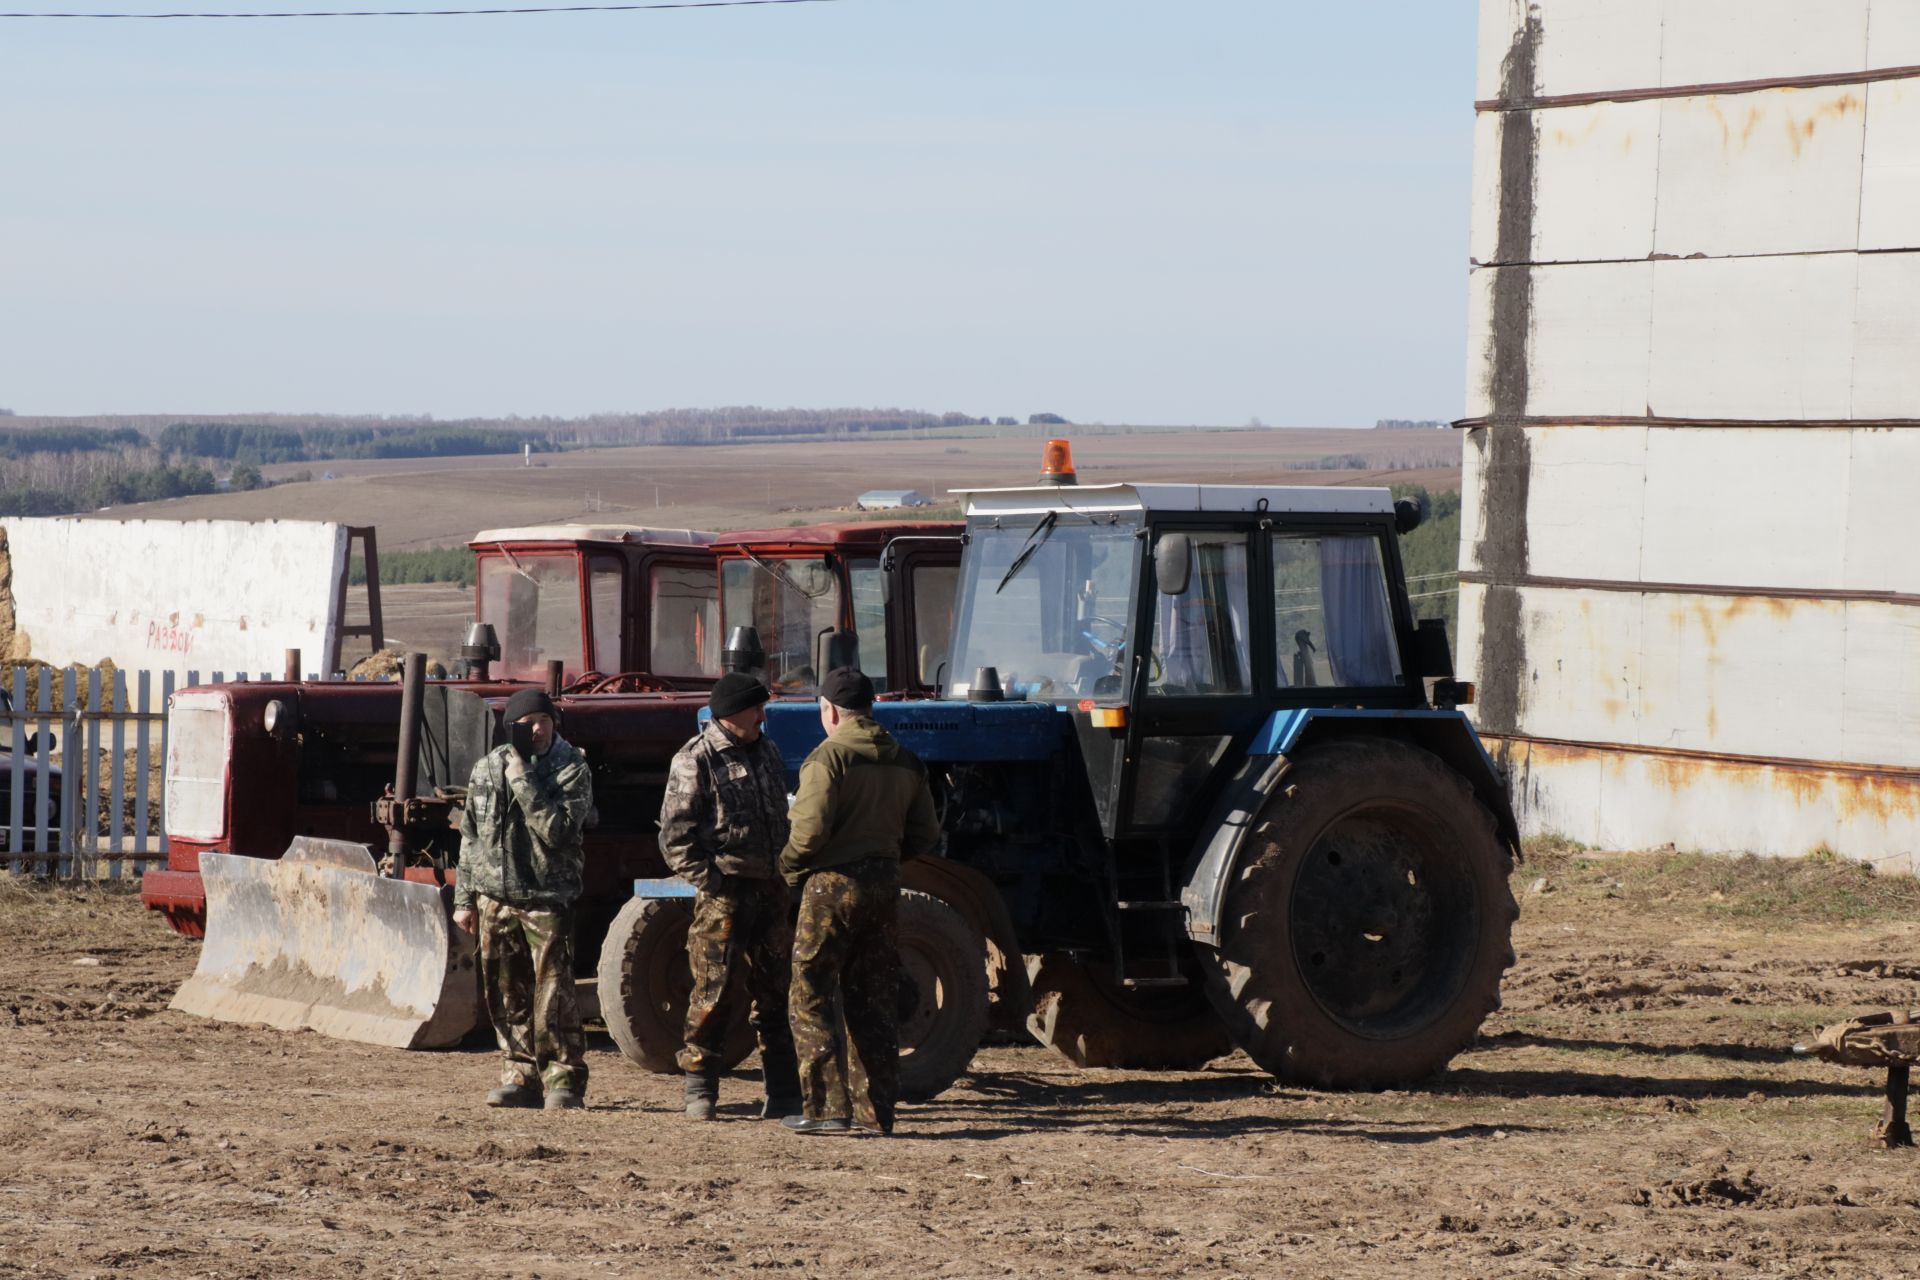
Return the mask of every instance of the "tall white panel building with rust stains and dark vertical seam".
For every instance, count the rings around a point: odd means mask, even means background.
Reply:
[[[1920,0],[1482,0],[1461,664],[1523,825],[1920,850]]]

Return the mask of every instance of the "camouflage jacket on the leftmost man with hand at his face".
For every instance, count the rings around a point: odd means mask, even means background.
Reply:
[[[511,906],[563,910],[580,896],[586,850],[580,833],[593,812],[593,775],[580,748],[553,739],[520,779],[509,781],[513,747],[474,762],[461,818],[461,865],[453,906],[474,894]]]

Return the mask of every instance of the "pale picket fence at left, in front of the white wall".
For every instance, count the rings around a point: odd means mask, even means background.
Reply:
[[[167,699],[246,672],[15,668],[0,706],[0,867],[60,879],[138,877],[167,858]],[[255,679],[278,679],[261,672]],[[307,679],[319,679],[309,676]],[[54,741],[58,739],[58,743]],[[29,745],[31,743],[31,745]],[[38,785],[58,770],[56,789]]]

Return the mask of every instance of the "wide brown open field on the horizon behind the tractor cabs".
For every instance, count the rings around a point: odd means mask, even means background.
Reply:
[[[1058,428],[1071,436],[1071,428]],[[645,445],[518,457],[300,462],[271,478],[332,472],[334,480],[282,484],[117,507],[108,518],[338,520],[372,524],[380,547],[465,543],[484,528],[605,520],[666,528],[735,530],[828,520],[866,489],[1029,484],[1043,436],[1000,439],[877,439],[781,445]],[[1461,438],[1444,430],[1261,430],[1083,436],[1083,484],[1188,480],[1244,484],[1386,484],[1459,487]],[[1365,470],[1296,470],[1302,462],[1359,455]]]

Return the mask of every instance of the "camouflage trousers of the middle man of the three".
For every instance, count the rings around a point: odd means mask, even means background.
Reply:
[[[687,1044],[676,1059],[687,1075],[720,1075],[728,1027],[747,1000],[760,1040],[760,1075],[768,1098],[793,1098],[793,1032],[787,1029],[787,983],[793,965],[793,921],[787,885],[778,879],[714,875],[693,900],[687,927]]]

